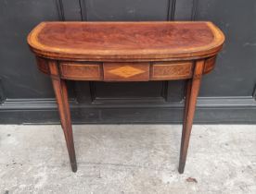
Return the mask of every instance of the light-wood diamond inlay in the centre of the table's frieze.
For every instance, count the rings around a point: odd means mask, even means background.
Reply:
[[[139,68],[134,68],[130,66],[118,67],[109,70],[109,73],[114,74],[116,76],[120,76],[122,78],[130,78],[132,76],[144,73],[145,71]]]

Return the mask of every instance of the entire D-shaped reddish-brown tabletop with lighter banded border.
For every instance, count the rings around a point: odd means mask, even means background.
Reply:
[[[211,55],[224,35],[211,22],[43,22],[28,42],[59,59],[157,59]]]

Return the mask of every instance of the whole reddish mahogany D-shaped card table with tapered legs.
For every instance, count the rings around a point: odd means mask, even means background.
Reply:
[[[211,22],[42,22],[28,36],[37,65],[50,75],[70,155],[77,171],[66,79],[148,81],[186,79],[179,173],[184,172],[202,75],[222,49]]]

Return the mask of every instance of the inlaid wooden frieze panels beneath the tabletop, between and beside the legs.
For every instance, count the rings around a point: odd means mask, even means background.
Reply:
[[[205,61],[203,74],[211,72],[216,56]],[[37,57],[38,68],[50,74],[46,61]],[[60,62],[60,77],[71,80],[101,81],[148,81],[190,79],[193,75],[193,61],[163,62]]]

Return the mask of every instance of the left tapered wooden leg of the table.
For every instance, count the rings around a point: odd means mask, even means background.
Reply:
[[[70,155],[70,164],[73,172],[77,171],[72,126],[70,119],[70,105],[68,102],[68,91],[66,86],[66,81],[59,78],[58,66],[56,62],[50,62],[49,68],[51,72],[51,78],[53,83],[53,88],[56,94],[56,99],[58,103],[58,114],[60,117],[61,127],[64,132],[64,136],[67,143],[68,152]]]

